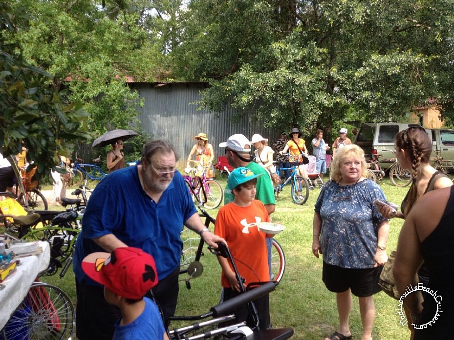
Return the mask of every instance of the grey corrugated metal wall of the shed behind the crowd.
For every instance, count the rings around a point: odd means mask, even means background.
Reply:
[[[242,133],[249,139],[259,133],[269,139],[269,144],[280,137],[275,129],[264,128],[247,118],[232,122],[231,118],[238,111],[230,106],[219,117],[208,110],[197,110],[199,106],[192,103],[200,99],[200,91],[204,89],[202,83],[130,83],[130,87],[144,99],[144,107],[137,109],[144,130],[153,139],[171,141],[180,160],[186,160],[195,144],[194,136],[200,132],[206,133],[213,145],[215,160],[224,155],[224,149],[218,144],[235,133]],[[179,166],[183,165],[179,163]]]

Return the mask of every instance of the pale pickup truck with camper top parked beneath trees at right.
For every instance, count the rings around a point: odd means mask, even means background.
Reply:
[[[391,160],[394,155],[387,150],[394,150],[394,138],[399,131],[414,123],[362,123],[356,133],[354,144],[361,146],[366,158],[373,154],[383,155],[380,159]],[[425,129],[432,136],[432,161],[436,159],[436,152],[443,160],[454,160],[454,130],[450,129]],[[381,162],[382,168],[387,169],[391,162]],[[454,176],[454,174],[453,174]]]

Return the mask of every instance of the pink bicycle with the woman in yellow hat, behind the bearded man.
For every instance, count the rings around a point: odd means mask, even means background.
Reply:
[[[200,164],[197,160],[190,160]],[[185,171],[188,175],[183,175],[183,179],[189,187],[189,191],[194,201],[205,202],[203,206],[207,209],[216,209],[224,198],[224,191],[217,180],[208,179],[206,176],[206,167],[203,167],[203,171],[200,176],[196,176],[197,169],[186,168]],[[199,180],[200,179],[200,180]],[[203,187],[203,190],[201,189]],[[206,195],[206,200],[204,199]]]

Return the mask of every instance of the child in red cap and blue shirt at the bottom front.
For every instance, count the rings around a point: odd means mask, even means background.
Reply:
[[[116,248],[110,254],[91,253],[82,261],[82,269],[104,285],[104,298],[121,311],[113,340],[169,339],[158,306],[144,298],[158,283],[150,254],[134,247]]]

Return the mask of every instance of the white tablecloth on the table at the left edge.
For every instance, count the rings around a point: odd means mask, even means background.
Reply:
[[[25,244],[35,244],[35,242],[21,243],[20,246],[22,247]],[[49,265],[49,243],[39,241],[38,244],[43,248],[43,252],[39,255],[20,258],[21,265],[16,267],[16,272],[1,283],[5,285],[5,288],[0,290],[0,329],[3,328],[17,306],[25,298],[38,273],[41,273]],[[13,244],[11,246],[13,251],[14,247]]]

